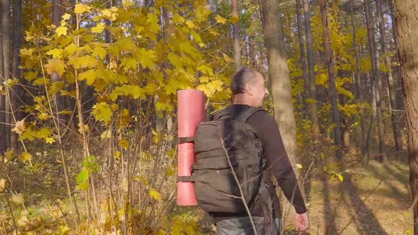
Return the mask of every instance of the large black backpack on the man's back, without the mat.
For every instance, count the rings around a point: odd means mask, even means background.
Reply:
[[[247,205],[251,207],[256,199],[263,172],[263,149],[246,121],[260,110],[263,109],[245,109],[232,116],[228,107],[219,111],[214,120],[197,126],[192,177],[180,181],[195,182],[197,202],[204,211],[246,212],[232,169]]]

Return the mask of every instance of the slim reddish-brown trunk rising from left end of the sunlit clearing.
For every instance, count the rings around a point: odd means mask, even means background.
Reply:
[[[333,52],[331,49],[331,41],[329,36],[327,4],[325,0],[320,0],[320,11],[322,15],[322,25],[324,26],[324,48],[325,48],[325,63],[327,63],[328,77],[329,77],[329,97],[331,98],[332,117],[334,126],[334,144],[338,147],[337,157],[342,159],[342,140],[341,140],[341,122],[340,112],[338,111],[338,93],[336,89],[336,75],[333,65]]]

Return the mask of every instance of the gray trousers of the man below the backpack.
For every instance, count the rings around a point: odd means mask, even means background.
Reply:
[[[277,235],[280,234],[281,220],[276,218],[270,221],[265,227],[264,217],[253,216],[254,225],[259,235]],[[217,224],[217,235],[253,235],[254,230],[251,225],[250,217],[241,217],[236,219],[225,219]]]

